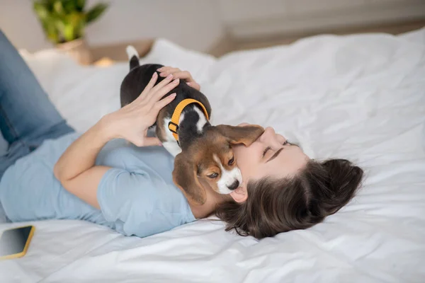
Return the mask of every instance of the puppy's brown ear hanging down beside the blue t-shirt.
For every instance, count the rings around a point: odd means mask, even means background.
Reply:
[[[183,152],[174,159],[173,181],[186,198],[196,204],[206,201],[205,189],[198,180],[198,168]]]

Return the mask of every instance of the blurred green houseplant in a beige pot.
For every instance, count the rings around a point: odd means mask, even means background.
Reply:
[[[89,10],[85,6],[86,0],[33,2],[34,11],[47,39],[80,63],[89,64],[91,54],[84,40],[84,28],[101,16],[108,8],[108,4],[96,4]]]

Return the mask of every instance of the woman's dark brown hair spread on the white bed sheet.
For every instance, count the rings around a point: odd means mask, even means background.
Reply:
[[[262,178],[247,185],[248,199],[219,204],[226,231],[264,238],[307,229],[344,207],[355,195],[363,170],[346,159],[310,160],[291,178]]]

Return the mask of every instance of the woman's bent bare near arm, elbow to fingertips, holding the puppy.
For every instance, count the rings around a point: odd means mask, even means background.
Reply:
[[[97,187],[107,166],[94,166],[96,157],[111,139],[123,138],[136,146],[159,145],[156,137],[147,137],[147,129],[154,124],[159,110],[170,103],[175,94],[161,98],[179,84],[168,76],[157,86],[154,73],[145,90],[129,105],[103,117],[96,125],[74,141],[59,158],[53,173],[64,188],[84,202],[99,208]]]

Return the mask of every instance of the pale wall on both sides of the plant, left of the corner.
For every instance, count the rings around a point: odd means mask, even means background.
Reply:
[[[100,1],[89,0],[88,6]],[[214,0],[108,2],[108,11],[86,30],[92,46],[166,37],[184,47],[207,51],[223,34]],[[18,48],[33,52],[51,46],[33,13],[31,0],[0,0],[0,28]]]

